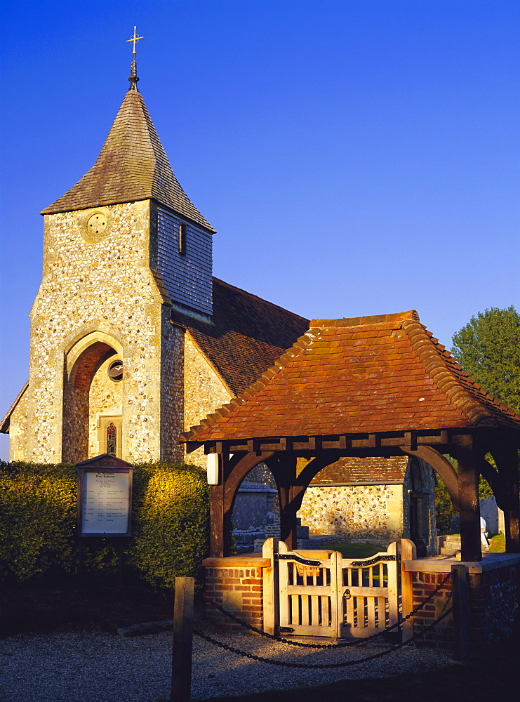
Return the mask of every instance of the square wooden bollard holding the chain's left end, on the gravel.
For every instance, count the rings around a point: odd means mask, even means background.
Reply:
[[[192,694],[194,578],[175,578],[171,702],[189,702]]]

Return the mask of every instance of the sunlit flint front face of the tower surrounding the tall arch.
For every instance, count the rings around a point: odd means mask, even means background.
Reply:
[[[88,217],[107,216],[105,234]],[[65,351],[95,330],[116,338],[125,365],[123,457],[160,456],[161,306],[149,269],[149,201],[46,216],[44,280],[32,309],[27,459],[62,458]]]

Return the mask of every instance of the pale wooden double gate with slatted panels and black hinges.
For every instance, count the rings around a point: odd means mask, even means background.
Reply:
[[[366,637],[399,617],[397,548],[366,559],[279,543],[279,625],[307,636]]]

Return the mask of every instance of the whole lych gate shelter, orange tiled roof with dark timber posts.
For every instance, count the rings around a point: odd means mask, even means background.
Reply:
[[[298,431],[313,422],[314,431]],[[444,480],[460,513],[463,561],[481,560],[479,475],[504,510],[507,552],[520,552],[520,416],[469,378],[414,311],[312,322],[255,385],[184,439],[187,451],[204,445],[218,454],[213,556],[229,554],[236,492],[258,463],[276,481],[281,540],[292,550],[296,514],[322,468],[344,456],[404,454],[422,458]],[[301,472],[298,458],[309,461]]]

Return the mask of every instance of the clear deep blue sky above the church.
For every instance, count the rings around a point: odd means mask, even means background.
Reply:
[[[520,308],[517,0],[4,0],[0,414],[28,376],[42,208],[140,91],[214,274],[309,318]],[[1,437],[0,456],[7,456]]]

